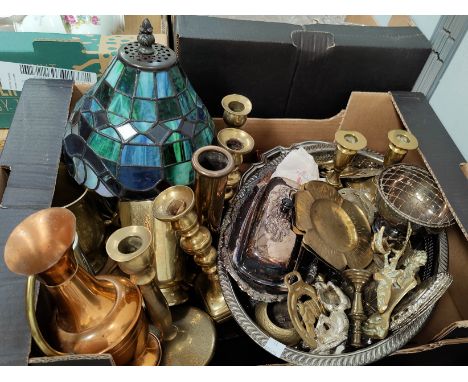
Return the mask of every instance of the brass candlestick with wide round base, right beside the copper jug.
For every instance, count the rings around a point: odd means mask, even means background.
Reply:
[[[119,268],[138,285],[146,310],[163,339],[162,365],[202,366],[214,352],[216,332],[210,317],[200,309],[179,307],[173,321],[171,311],[156,283],[151,232],[143,226],[128,226],[115,231],[106,250]]]

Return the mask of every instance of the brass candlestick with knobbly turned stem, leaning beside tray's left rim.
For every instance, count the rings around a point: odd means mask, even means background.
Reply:
[[[217,322],[229,318],[231,312],[224,301],[216,269],[216,249],[211,245],[210,231],[198,223],[195,213],[195,194],[187,186],[173,186],[161,192],[154,200],[156,219],[170,222],[181,236],[180,246],[200,266],[201,273],[195,286],[203,299],[208,314]]]

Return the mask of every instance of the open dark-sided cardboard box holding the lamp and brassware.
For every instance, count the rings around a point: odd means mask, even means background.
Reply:
[[[72,97],[73,91],[75,94]],[[3,365],[44,362],[112,364],[108,355],[30,359],[32,341],[24,309],[25,278],[9,272],[3,260],[5,241],[13,228],[27,215],[50,206],[70,100],[78,99],[79,95],[79,89],[73,89],[69,81],[29,80],[15,115],[11,135],[0,156],[0,166],[11,170],[0,209],[0,364]],[[42,107],[44,100],[51,105],[47,110]],[[25,113],[34,116],[34,128],[29,125],[31,117],[24,118]],[[220,119],[215,122],[218,128],[223,123]],[[409,347],[398,352],[398,357],[402,357],[399,362],[423,364],[427,360],[424,354],[434,354],[431,352],[437,352],[441,346],[465,346],[468,333],[460,330],[466,330],[463,328],[468,326],[465,298],[468,294],[468,206],[464,202],[467,180],[458,166],[462,161],[461,154],[425,97],[409,92],[353,92],[346,110],[329,119],[251,118],[245,126],[254,137],[258,152],[305,140],[332,141],[339,128],[361,131],[367,137],[368,147],[382,153],[386,150],[389,129],[411,130],[420,141],[420,149],[408,154],[405,162],[428,167],[457,218],[458,226],[448,230],[449,270],[454,282],[437,304],[422,332]],[[35,145],[29,145],[30,140],[34,140]],[[444,354],[449,354],[449,348],[454,347],[445,348]],[[419,358],[414,358],[413,353],[417,353]],[[381,363],[396,359],[393,357],[385,358]],[[448,361],[453,362],[453,359]],[[444,358],[438,357],[437,362],[443,364]]]

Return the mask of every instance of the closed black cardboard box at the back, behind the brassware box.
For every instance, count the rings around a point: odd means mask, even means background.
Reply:
[[[215,117],[220,99],[238,93],[251,99],[251,117],[330,118],[352,91],[410,91],[431,52],[414,26],[176,16],[173,35],[182,67]]]

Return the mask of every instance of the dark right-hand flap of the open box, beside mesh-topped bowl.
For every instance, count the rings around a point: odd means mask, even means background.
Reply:
[[[460,169],[465,162],[463,155],[422,93],[392,92],[392,96],[405,127],[418,138],[421,157],[468,240],[468,179]]]

